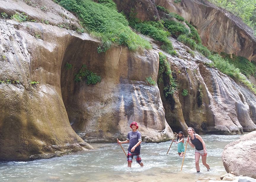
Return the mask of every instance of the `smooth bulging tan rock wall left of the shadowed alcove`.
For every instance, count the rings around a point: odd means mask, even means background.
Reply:
[[[61,96],[60,68],[72,36],[52,25],[1,20],[0,160],[26,161],[91,147],[71,128]],[[16,27],[16,28],[15,28]],[[42,39],[32,32],[42,33]],[[32,85],[30,81],[40,84]]]

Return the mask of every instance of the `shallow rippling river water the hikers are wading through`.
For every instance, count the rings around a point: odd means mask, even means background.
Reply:
[[[133,159],[132,168],[121,147],[116,143],[92,144],[91,151],[78,152],[63,157],[35,160],[31,162],[0,163],[0,181],[209,181],[219,180],[226,173],[221,160],[224,147],[237,140],[241,135],[202,135],[207,147],[207,163],[211,171],[207,172],[200,159],[200,173],[196,173],[194,149],[188,145],[183,169],[182,158],[177,154],[177,144],[142,143],[140,167]],[[122,145],[127,152],[128,144]]]

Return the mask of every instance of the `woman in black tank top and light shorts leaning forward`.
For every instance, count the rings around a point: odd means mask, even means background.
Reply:
[[[207,150],[205,143],[202,137],[195,133],[194,128],[188,127],[188,134],[190,135],[190,141],[187,139],[189,145],[195,149],[195,161],[196,161],[196,172],[200,172],[199,168],[199,159],[202,156],[202,163],[207,168],[207,171],[210,170],[210,166],[206,163]]]

